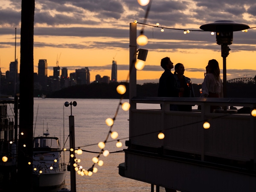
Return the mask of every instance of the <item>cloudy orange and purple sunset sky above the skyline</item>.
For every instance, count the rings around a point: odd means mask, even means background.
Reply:
[[[232,20],[250,27],[248,32],[233,32],[233,44],[227,57],[227,80],[256,75],[256,2],[255,0],[151,0],[148,6],[137,0],[35,0],[34,71],[38,60],[47,59],[48,76],[58,61],[68,73],[89,67],[90,81],[97,74],[111,76],[111,64],[117,62],[117,80],[125,81],[129,68],[129,23],[137,20],[137,34],[144,29],[148,49],[137,83],[158,82],[163,72],[160,60],[170,57],[185,66],[185,76],[200,84],[207,62],[215,58],[222,71],[221,46],[215,35],[200,26],[217,20]],[[9,70],[20,61],[21,0],[0,1],[0,67]],[[160,23],[156,27],[156,23]],[[161,28],[164,32],[160,32]],[[168,29],[171,28],[171,29]],[[189,29],[190,33],[183,34]]]

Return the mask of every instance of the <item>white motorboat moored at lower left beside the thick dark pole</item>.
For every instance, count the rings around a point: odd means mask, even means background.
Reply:
[[[33,138],[33,185],[57,187],[65,182],[66,165],[62,161],[58,137],[49,133]]]

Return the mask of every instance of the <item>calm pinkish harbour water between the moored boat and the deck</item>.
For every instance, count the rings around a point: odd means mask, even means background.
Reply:
[[[49,131],[50,136],[60,138],[61,146],[67,141],[65,148],[69,148],[69,116],[71,107],[65,107],[64,102],[77,102],[77,106],[72,106],[72,115],[75,119],[75,145],[81,149],[96,153],[83,152],[76,155],[81,159],[80,166],[89,169],[92,165],[92,158],[99,154],[98,143],[105,141],[110,127],[106,125],[105,119],[113,118],[118,108],[119,99],[34,99],[34,130],[35,136],[42,135]],[[122,100],[122,102],[128,102]],[[155,108],[160,108],[155,105]],[[106,143],[105,149],[114,152],[127,148],[125,140],[128,140],[129,132],[129,112],[119,109],[112,131],[118,132],[122,142],[122,147],[116,147],[116,141]],[[109,138],[108,141],[113,141]],[[64,154],[65,162],[69,161],[69,152]],[[103,166],[98,166],[98,172],[92,176],[81,176],[76,174],[77,192],[143,192],[151,191],[151,184],[144,183],[129,178],[121,177],[118,174],[118,166],[125,161],[124,152],[109,154],[108,157],[100,156],[99,160],[104,161]],[[70,172],[67,172],[65,183],[58,189],[70,187]],[[56,192],[58,189],[48,189],[49,192]],[[164,191],[164,189],[160,189]]]

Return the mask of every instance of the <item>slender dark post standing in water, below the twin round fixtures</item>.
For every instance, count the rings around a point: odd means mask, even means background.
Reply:
[[[73,166],[73,164],[75,163],[75,121],[72,114],[69,116],[69,132],[70,149],[73,148],[73,151],[70,150],[70,186],[71,192],[76,192],[76,171]],[[71,154],[73,154],[74,156],[71,157]]]

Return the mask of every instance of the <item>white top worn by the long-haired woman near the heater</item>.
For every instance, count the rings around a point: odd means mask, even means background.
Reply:
[[[202,83],[201,97],[207,97],[211,93],[218,93],[223,97],[223,84],[221,79],[217,80],[212,73],[207,73]]]

